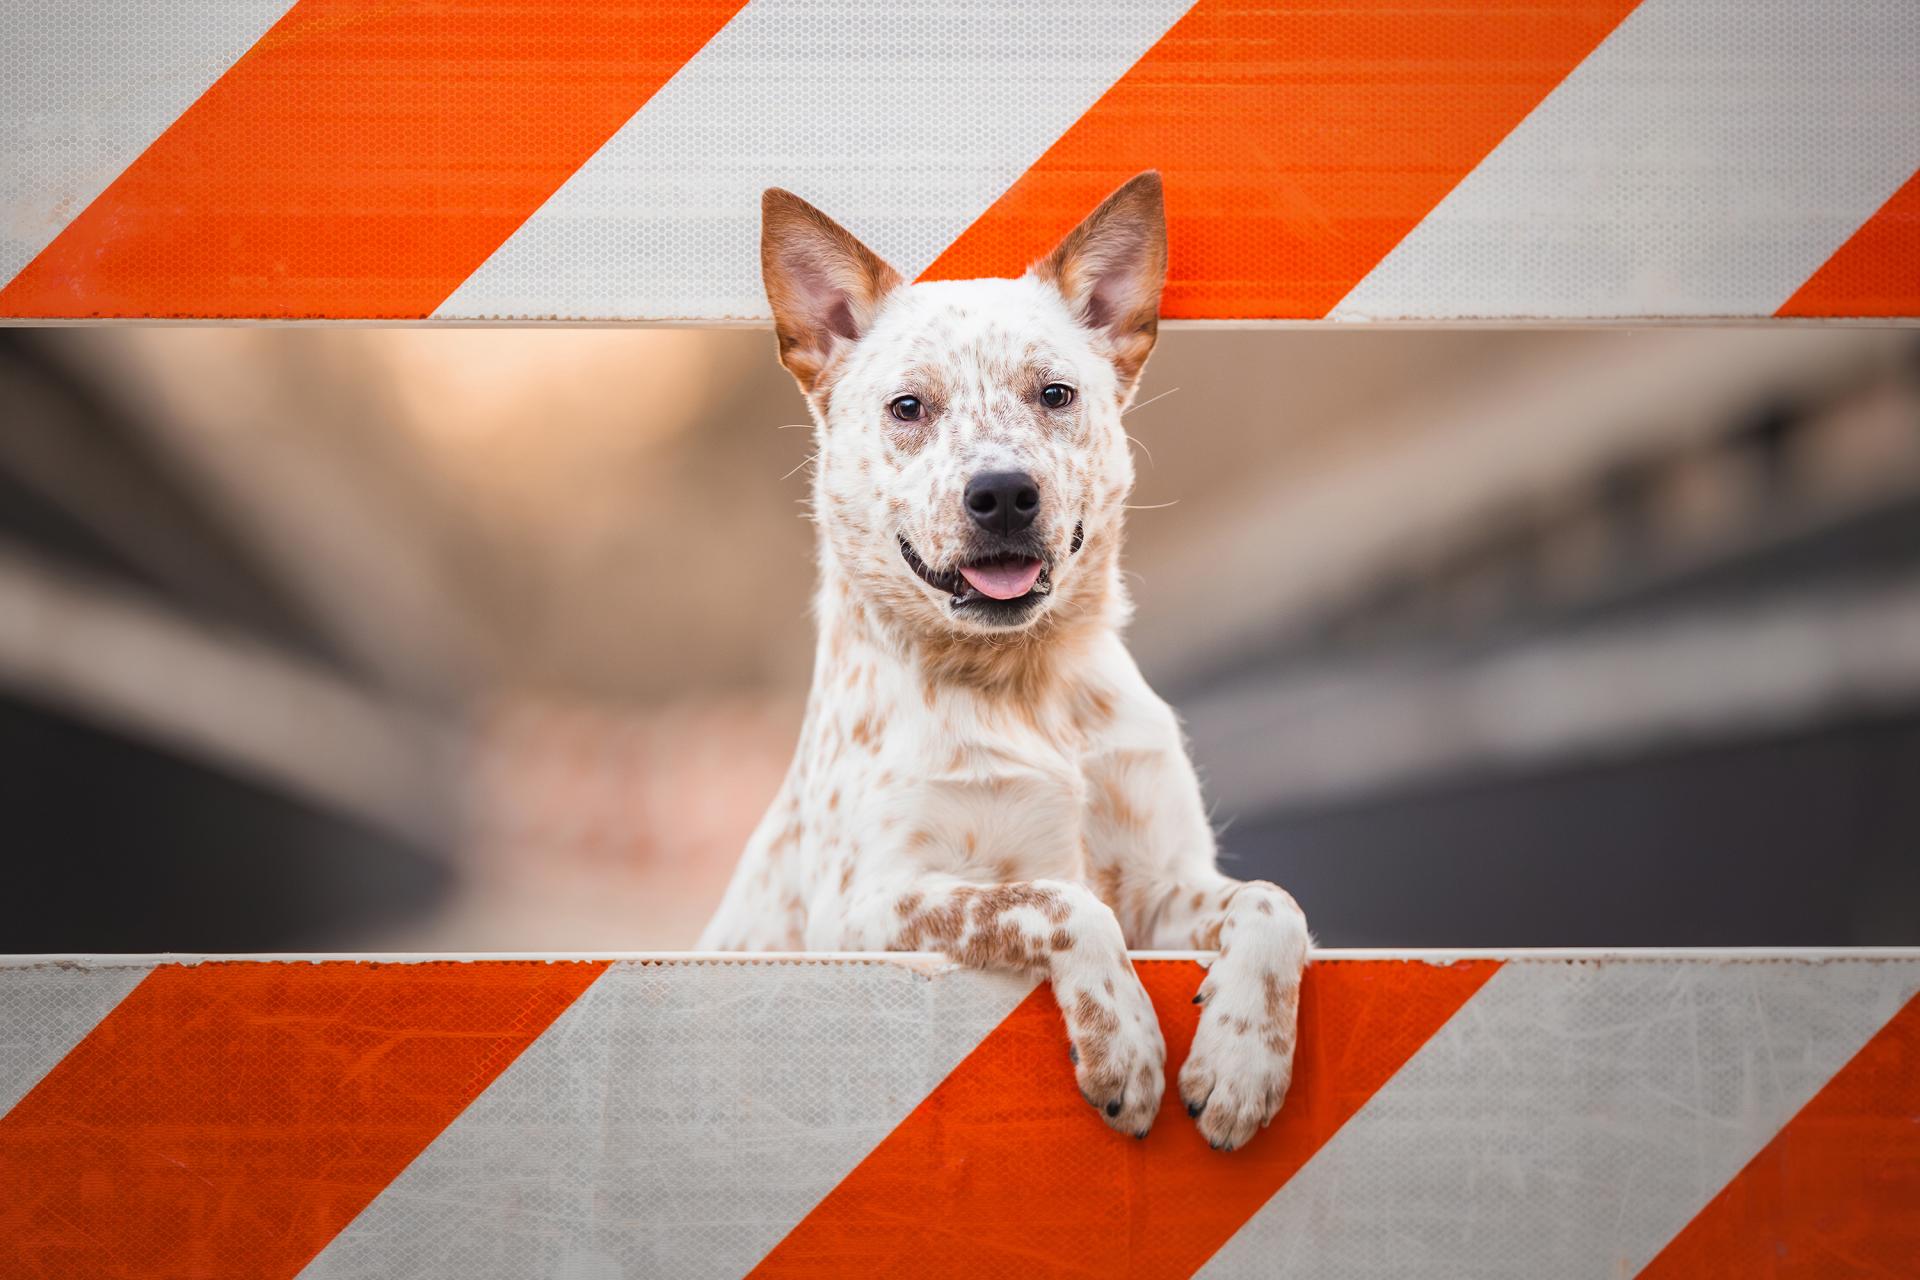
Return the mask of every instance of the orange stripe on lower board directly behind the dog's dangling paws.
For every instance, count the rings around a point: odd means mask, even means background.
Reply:
[[[755,1276],[1190,1276],[1500,967],[1308,971],[1292,1092],[1267,1132],[1208,1150],[1171,1088],[1202,969],[1140,961],[1169,1088],[1146,1142],[1081,1102],[1041,986],[822,1199]]]

